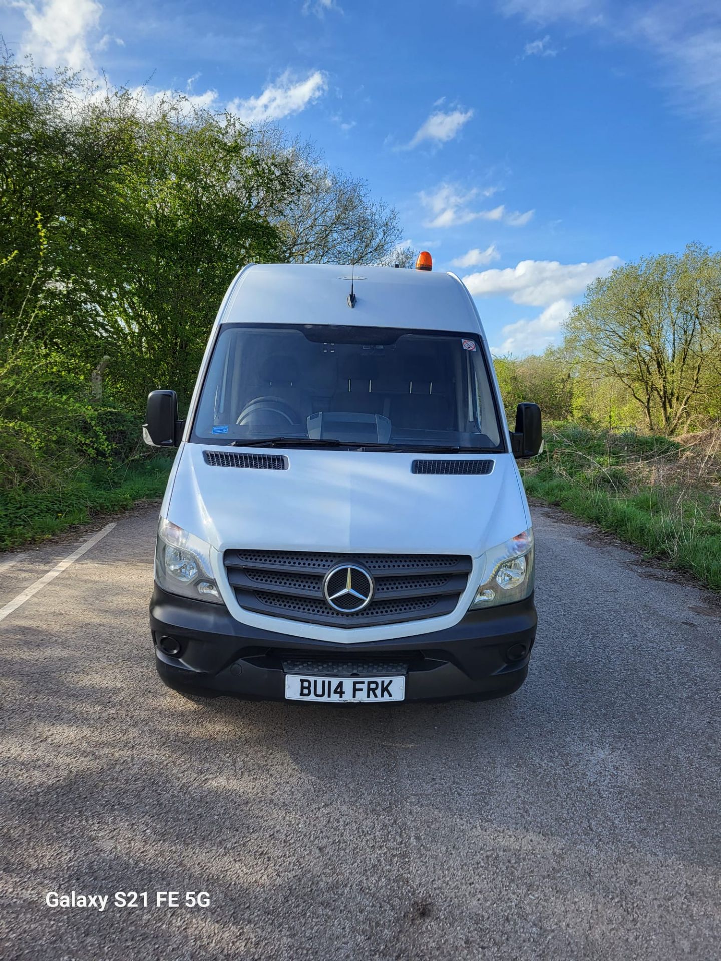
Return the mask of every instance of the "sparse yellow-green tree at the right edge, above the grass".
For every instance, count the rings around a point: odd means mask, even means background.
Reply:
[[[721,254],[643,258],[599,278],[566,323],[566,346],[625,385],[649,430],[679,431],[721,384]]]

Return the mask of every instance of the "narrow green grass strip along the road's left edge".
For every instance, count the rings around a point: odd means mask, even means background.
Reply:
[[[0,497],[0,550],[43,540],[94,514],[127,510],[162,497],[172,459],[152,457],[112,471],[79,471],[52,490],[13,487]]]

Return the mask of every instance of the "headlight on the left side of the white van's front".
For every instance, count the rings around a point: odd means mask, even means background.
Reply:
[[[163,590],[193,601],[222,604],[212,577],[211,545],[161,518],[155,548],[155,579]]]

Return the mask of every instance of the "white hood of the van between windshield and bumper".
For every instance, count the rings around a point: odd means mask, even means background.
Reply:
[[[449,627],[463,616],[480,583],[485,550],[531,526],[518,470],[508,454],[484,456],[494,461],[490,474],[456,477],[411,474],[411,462],[419,457],[411,454],[254,449],[254,454],[282,453],[288,460],[287,470],[254,470],[210,466],[203,457],[206,450],[229,452],[211,444],[184,444],[162,514],[215,549],[211,560],[218,585],[237,620],[269,630],[287,624],[295,635],[360,641]],[[343,628],[291,624],[240,608],[222,572],[222,554],[229,548],[470,554],[474,566],[453,614],[355,628],[350,638]]]

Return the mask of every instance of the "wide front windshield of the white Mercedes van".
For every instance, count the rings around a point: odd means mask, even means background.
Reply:
[[[387,450],[503,448],[476,334],[406,328],[221,328],[191,440]]]

